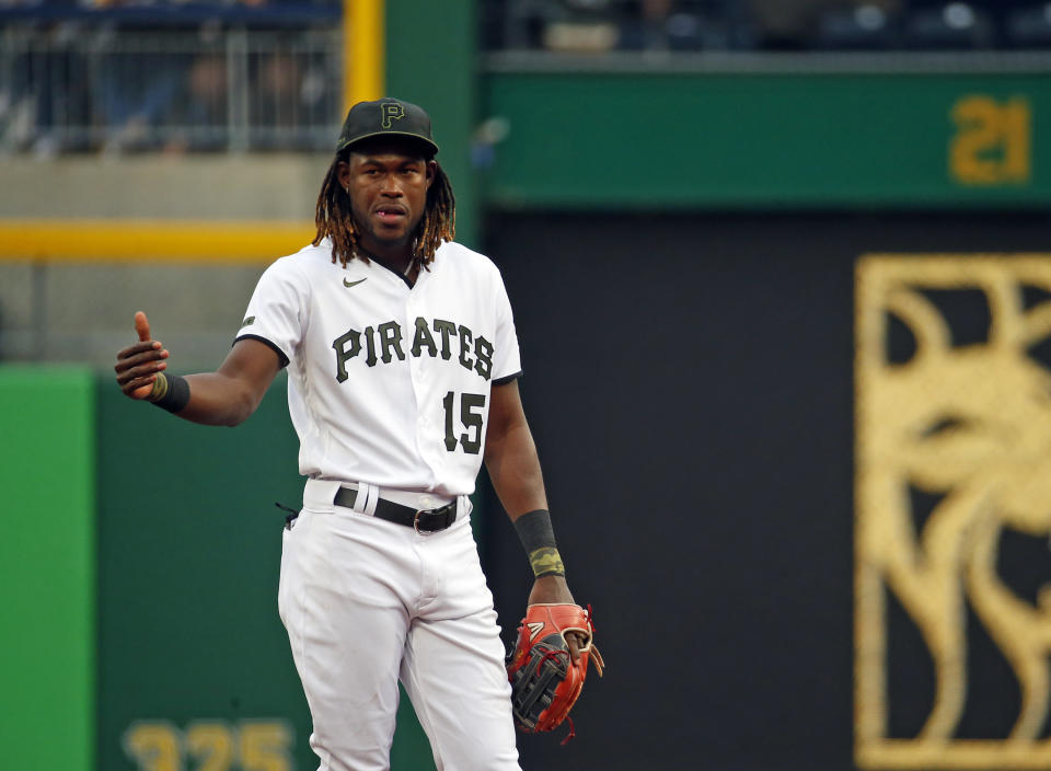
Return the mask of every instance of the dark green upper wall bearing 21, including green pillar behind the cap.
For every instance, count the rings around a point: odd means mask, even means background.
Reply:
[[[1039,208],[1046,57],[477,57],[475,3],[386,7],[386,89],[485,210]],[[441,41],[436,45],[436,41]]]

